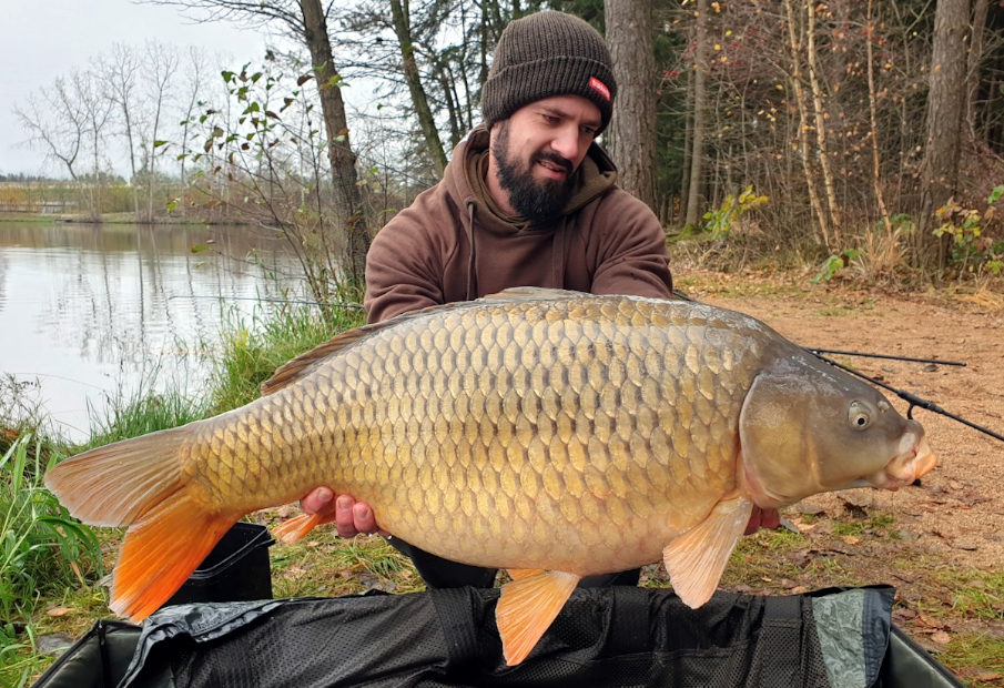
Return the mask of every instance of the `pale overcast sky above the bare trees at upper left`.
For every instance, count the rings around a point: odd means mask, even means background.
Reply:
[[[130,0],[0,0],[0,173],[60,174],[44,164],[41,150],[19,145],[27,138],[12,110],[29,93],[57,77],[84,69],[112,43],[138,49],[148,40],[182,51],[201,45],[211,58],[232,58],[230,65],[260,61],[262,30],[226,22],[193,23],[172,7]]]

